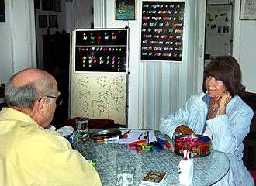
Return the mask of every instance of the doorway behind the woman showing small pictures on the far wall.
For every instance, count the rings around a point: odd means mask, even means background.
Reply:
[[[211,57],[232,55],[234,5],[232,2],[210,1],[206,3],[205,63]]]

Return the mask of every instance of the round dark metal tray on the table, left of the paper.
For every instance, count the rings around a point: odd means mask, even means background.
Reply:
[[[91,139],[102,139],[121,135],[122,132],[119,129],[95,129],[90,133]]]

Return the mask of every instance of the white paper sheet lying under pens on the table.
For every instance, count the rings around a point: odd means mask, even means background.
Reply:
[[[126,133],[128,130],[122,130],[122,134]],[[148,130],[149,131],[149,140],[150,142],[156,141],[156,136],[154,135],[154,130]],[[140,136],[140,134],[142,135]],[[119,143],[132,143],[140,140],[145,140],[144,136],[147,135],[147,130],[131,130],[130,133],[128,133],[128,138],[122,138],[119,139]],[[140,136],[140,139],[138,139]]]

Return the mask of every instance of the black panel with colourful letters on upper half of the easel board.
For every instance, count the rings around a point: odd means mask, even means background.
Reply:
[[[74,71],[128,71],[128,29],[77,29],[74,40]]]

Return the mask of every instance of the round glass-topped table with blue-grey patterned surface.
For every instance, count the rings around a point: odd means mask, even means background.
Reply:
[[[100,130],[100,129],[98,129]],[[137,129],[133,129],[137,130]],[[171,143],[171,150],[143,150],[138,153],[125,143],[99,143],[97,140],[87,140],[78,143],[71,142],[74,149],[78,150],[88,161],[94,162],[95,170],[98,171],[103,186],[116,184],[117,167],[129,164],[135,167],[133,185],[140,185],[141,180],[149,171],[161,171],[166,173],[166,178],[161,185],[172,186],[179,184],[178,164],[182,156],[174,152],[174,141],[168,136],[154,131],[155,136],[168,140]],[[212,185],[223,178],[230,167],[229,160],[225,153],[211,150],[209,155],[194,157],[194,175],[192,185]]]

